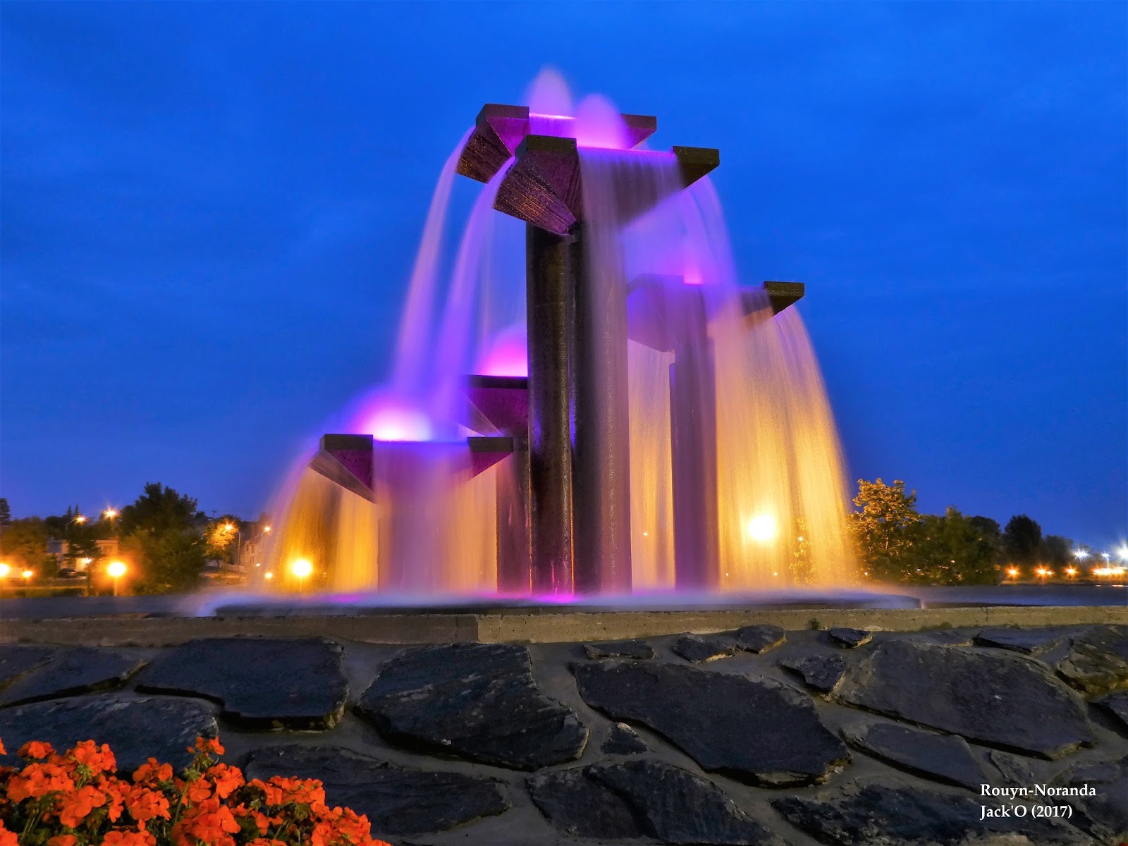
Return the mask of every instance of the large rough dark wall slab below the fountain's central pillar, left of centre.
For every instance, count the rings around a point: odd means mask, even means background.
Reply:
[[[574,760],[588,741],[572,710],[537,687],[529,651],[509,644],[405,652],[384,666],[356,711],[405,746],[513,769]]]

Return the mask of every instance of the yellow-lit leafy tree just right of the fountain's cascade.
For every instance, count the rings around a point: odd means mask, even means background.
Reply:
[[[900,479],[892,485],[858,479],[857,487],[854,504],[862,510],[851,514],[851,525],[867,572],[878,579],[909,578],[913,529],[920,521],[916,491],[906,494]]]

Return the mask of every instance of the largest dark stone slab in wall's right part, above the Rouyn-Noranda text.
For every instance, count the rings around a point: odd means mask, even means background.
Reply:
[[[1045,667],[1021,655],[888,641],[847,671],[837,697],[1045,758],[1095,742],[1084,703]]]

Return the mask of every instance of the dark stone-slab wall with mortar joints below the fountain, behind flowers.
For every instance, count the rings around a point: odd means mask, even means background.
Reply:
[[[248,776],[321,778],[396,846],[1128,839],[1128,627],[0,646],[9,750],[180,765],[217,732]]]

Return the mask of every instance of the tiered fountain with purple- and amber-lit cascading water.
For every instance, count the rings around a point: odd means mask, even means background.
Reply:
[[[393,378],[296,474],[264,573],[437,600],[849,583],[803,285],[738,283],[719,151],[644,149],[655,118],[601,98],[545,111],[485,106],[447,162]],[[440,284],[456,173],[484,187]]]

